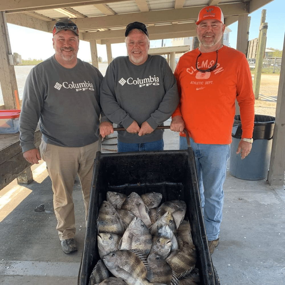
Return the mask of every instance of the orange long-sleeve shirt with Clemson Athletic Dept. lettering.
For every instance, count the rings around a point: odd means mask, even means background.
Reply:
[[[174,75],[180,103],[172,117],[182,116],[185,128],[195,143],[230,144],[235,116],[235,99],[240,107],[242,137],[251,138],[254,127],[254,93],[249,64],[242,52],[223,46],[216,51],[202,53],[198,69],[199,49],[181,56]],[[181,135],[181,134],[180,134]]]

